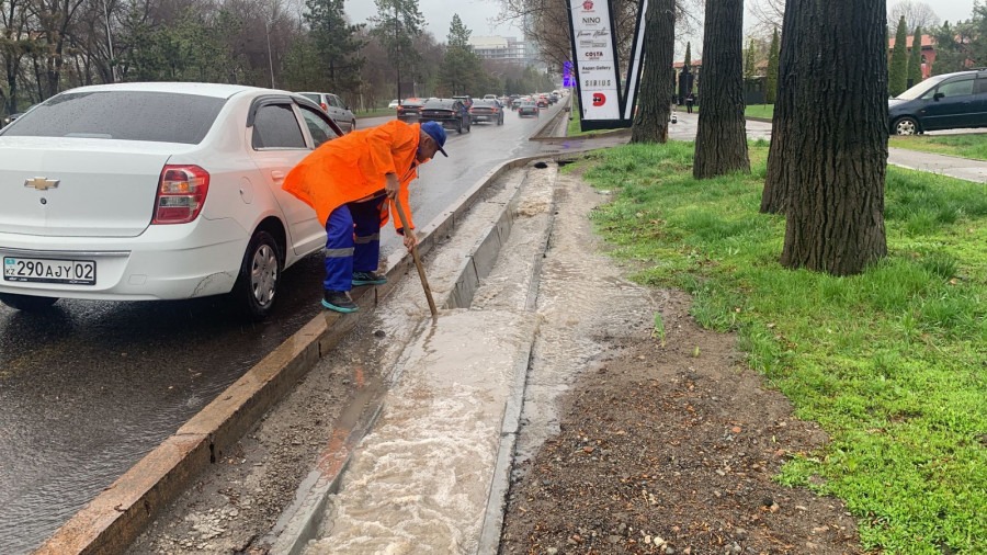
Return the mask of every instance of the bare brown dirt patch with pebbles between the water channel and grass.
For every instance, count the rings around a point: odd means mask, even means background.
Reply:
[[[744,366],[734,335],[700,329],[688,295],[662,295],[665,344],[612,339],[517,468],[501,553],[861,553],[839,499],[772,480],[826,433]]]

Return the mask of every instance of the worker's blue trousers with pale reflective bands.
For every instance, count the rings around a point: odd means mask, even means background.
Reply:
[[[326,220],[327,291],[350,291],[353,272],[375,272],[381,256],[381,209],[386,196],[339,206]]]

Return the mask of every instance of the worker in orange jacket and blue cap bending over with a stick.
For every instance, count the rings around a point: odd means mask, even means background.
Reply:
[[[449,156],[444,145],[445,129],[435,122],[393,121],[326,141],[288,172],[282,189],[315,208],[326,227],[322,306],[354,313],[353,285],[387,283],[376,270],[390,204],[401,203],[408,216],[410,229],[394,218],[405,247],[410,251],[418,245],[408,183],[435,152]]]

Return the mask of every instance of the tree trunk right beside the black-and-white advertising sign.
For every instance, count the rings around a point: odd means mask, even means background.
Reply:
[[[671,97],[671,67],[676,47],[676,1],[648,0],[645,13],[644,76],[631,143],[667,143]],[[627,102],[634,99],[627,99]]]

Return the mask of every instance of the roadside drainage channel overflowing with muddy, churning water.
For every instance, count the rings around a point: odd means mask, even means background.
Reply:
[[[377,308],[377,326],[405,326],[375,362],[388,387],[373,429],[334,479],[299,489],[265,539],[271,553],[496,550],[553,214],[555,165],[538,166],[488,203],[502,205],[487,233],[460,229],[428,261],[436,298],[447,299],[438,318],[417,276],[389,297],[401,302]]]

